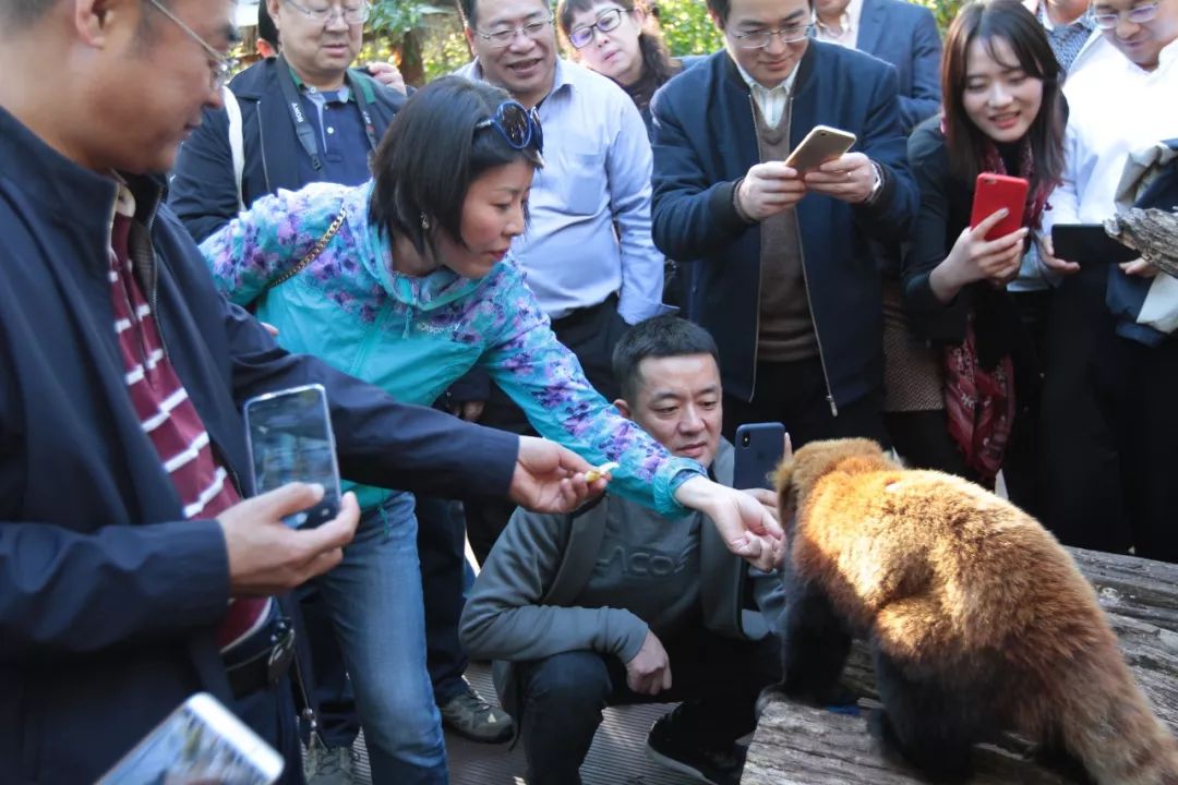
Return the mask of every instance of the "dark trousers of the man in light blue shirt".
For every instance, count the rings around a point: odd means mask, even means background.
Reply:
[[[611,367],[614,346],[626,328],[626,321],[617,314],[616,295],[610,295],[601,305],[581,308],[552,321],[556,339],[577,355],[589,384],[610,403],[620,394]],[[523,411],[494,384],[478,423],[512,433],[535,434]],[[495,540],[507,527],[515,505],[510,501],[472,500],[464,508],[470,547],[478,563],[483,564]]]

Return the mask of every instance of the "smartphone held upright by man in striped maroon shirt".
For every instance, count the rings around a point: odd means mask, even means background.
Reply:
[[[323,385],[291,387],[245,401],[245,434],[257,493],[287,483],[323,486],[323,499],[286,515],[283,521],[287,526],[318,526],[339,514],[336,438]]]

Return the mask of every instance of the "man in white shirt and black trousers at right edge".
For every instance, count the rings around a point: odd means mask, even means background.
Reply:
[[[1064,85],[1067,160],[1044,213],[1040,259],[1064,280],[1047,322],[1043,523],[1067,545],[1178,561],[1178,485],[1166,472],[1178,281],[1143,260],[1080,266],[1050,253],[1053,225],[1113,217],[1131,159],[1176,145],[1178,0],[1096,0],[1090,13],[1111,56]]]

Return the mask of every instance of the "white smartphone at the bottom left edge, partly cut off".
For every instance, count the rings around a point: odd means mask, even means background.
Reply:
[[[283,758],[220,701],[198,692],[125,754],[98,785],[271,785]]]

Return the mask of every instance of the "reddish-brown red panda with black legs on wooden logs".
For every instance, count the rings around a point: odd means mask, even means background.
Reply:
[[[825,701],[851,636],[871,641],[874,730],[934,779],[1015,731],[1099,785],[1178,785],[1178,743],[1133,681],[1096,592],[1055,538],[964,479],[866,439],[777,470],[786,531],[781,690]]]

